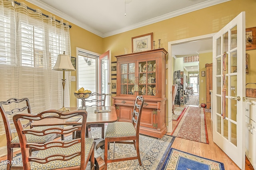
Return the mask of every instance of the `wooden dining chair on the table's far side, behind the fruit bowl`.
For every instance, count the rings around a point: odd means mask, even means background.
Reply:
[[[94,98],[95,99],[90,99],[90,98]],[[106,94],[105,93],[92,93],[90,98],[85,100],[85,105],[86,107],[90,107],[90,106],[105,106],[105,102],[106,102]],[[88,128],[88,134],[91,137],[91,132],[90,129],[91,127],[98,127],[101,128],[101,137],[104,138],[104,131],[105,131],[105,123],[95,123],[95,124],[88,124],[87,128]]]

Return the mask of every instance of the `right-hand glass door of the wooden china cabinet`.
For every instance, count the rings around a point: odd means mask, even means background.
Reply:
[[[156,95],[156,60],[138,62],[139,95]]]

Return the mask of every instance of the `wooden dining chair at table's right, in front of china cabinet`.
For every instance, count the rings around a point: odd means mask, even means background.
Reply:
[[[140,132],[140,119],[142,107],[144,105],[144,98],[142,96],[137,96],[135,105],[132,111],[132,122],[114,122],[108,123],[106,134],[105,134],[105,151],[104,151],[104,161],[107,166],[108,162],[119,162],[124,160],[138,159],[140,166],[142,165],[140,160],[140,149],[139,149],[139,132]],[[132,140],[132,141],[127,141]],[[134,144],[137,156],[126,157],[126,158],[108,158],[109,142],[124,143],[124,144]],[[115,148],[114,148],[115,149]]]

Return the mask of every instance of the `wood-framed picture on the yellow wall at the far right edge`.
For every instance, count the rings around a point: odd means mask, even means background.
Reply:
[[[246,50],[256,49],[256,27],[246,28]]]

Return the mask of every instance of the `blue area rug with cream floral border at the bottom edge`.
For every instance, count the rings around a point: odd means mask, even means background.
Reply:
[[[224,164],[171,148],[157,170],[224,170]],[[164,154],[165,155],[165,154]]]

